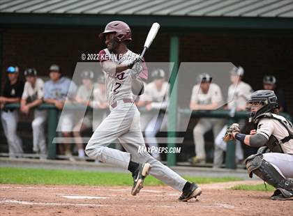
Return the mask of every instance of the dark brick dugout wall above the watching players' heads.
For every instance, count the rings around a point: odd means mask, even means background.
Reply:
[[[70,77],[77,61],[81,61],[82,53],[97,53],[104,48],[98,39],[102,30],[0,30],[3,33],[3,67],[16,64],[23,71],[33,66],[41,76],[47,76],[50,65],[59,63],[63,73]],[[130,49],[140,52],[146,36],[146,32],[133,29]],[[169,46],[169,34],[159,33],[147,52],[147,61],[169,61]],[[274,74],[285,91],[293,115],[293,36],[284,33],[184,33],[180,39],[180,61],[227,61],[242,65],[246,70],[245,81],[255,90],[262,88],[265,74]],[[2,77],[5,77],[4,73]]]

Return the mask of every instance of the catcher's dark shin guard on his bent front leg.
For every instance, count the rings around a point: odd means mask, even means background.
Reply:
[[[263,159],[262,154],[247,157],[246,168],[250,178],[255,173],[255,175],[273,187],[283,188],[288,191],[293,190],[293,178],[284,178],[273,165]]]

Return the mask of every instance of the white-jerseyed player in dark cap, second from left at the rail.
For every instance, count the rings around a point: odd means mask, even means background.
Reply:
[[[20,110],[23,114],[29,114],[31,109],[34,109],[33,122],[31,128],[33,128],[33,151],[40,153],[40,159],[47,158],[47,146],[45,140],[44,124],[47,118],[46,110],[35,109],[43,102],[44,97],[44,82],[37,77],[37,71],[35,68],[27,68],[24,71],[24,76],[27,82],[24,84],[24,93],[22,93],[22,101],[20,104]]]

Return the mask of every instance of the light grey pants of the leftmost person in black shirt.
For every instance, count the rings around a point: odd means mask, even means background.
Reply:
[[[18,112],[14,111],[1,111],[1,122],[6,136],[9,148],[9,156],[15,157],[22,154],[22,140],[17,136],[17,121]]]

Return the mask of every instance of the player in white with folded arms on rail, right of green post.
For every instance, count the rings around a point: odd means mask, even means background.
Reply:
[[[190,109],[192,110],[212,110],[220,106],[223,102],[220,87],[211,83],[212,77],[208,74],[200,74],[198,83],[193,87],[190,99]],[[193,129],[193,139],[195,142],[195,157],[188,161],[192,164],[206,162],[206,152],[204,150],[204,134],[213,130],[213,137],[216,137],[223,128],[223,120],[219,118],[200,118]],[[213,154],[213,167],[220,167],[223,160],[223,150],[215,145]]]

